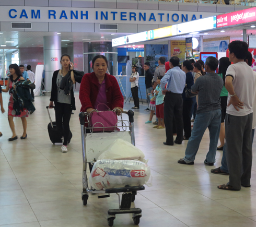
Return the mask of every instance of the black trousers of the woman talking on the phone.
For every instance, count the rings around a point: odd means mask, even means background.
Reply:
[[[55,119],[59,133],[64,137],[63,145],[67,146],[69,121],[72,113],[71,104],[55,102]],[[62,127],[63,124],[63,127]]]

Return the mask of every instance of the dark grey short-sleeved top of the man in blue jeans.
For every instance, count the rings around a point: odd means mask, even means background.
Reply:
[[[221,110],[220,92],[223,88],[223,79],[216,73],[207,73],[197,78],[191,86],[193,92],[199,91],[196,113],[204,113],[212,110]]]

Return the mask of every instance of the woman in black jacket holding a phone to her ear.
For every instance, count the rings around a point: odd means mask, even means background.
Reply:
[[[61,56],[61,65],[61,69],[54,71],[52,76],[52,91],[49,108],[54,107],[56,126],[59,133],[63,136],[61,151],[67,152],[68,136],[70,133],[69,121],[72,110],[76,110],[73,90],[73,83],[76,83],[76,80],[73,71],[74,64],[71,62],[71,58],[68,54]],[[63,83],[64,81],[67,81],[68,84]],[[72,86],[69,86],[70,82]]]

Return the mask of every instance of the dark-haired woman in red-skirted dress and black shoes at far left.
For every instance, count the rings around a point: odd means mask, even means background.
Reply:
[[[20,137],[20,139],[26,139],[27,138],[27,120],[26,117],[28,117],[28,111],[27,109],[24,109],[23,111],[20,111],[18,114],[14,110],[14,99],[13,99],[13,91],[15,87],[15,83],[17,83],[20,80],[24,80],[24,78],[21,75],[19,66],[17,64],[11,64],[9,65],[9,72],[10,77],[7,82],[6,89],[2,89],[3,92],[8,92],[10,94],[10,100],[8,104],[8,121],[10,125],[11,132],[13,133],[13,136],[10,137],[9,141],[14,141],[18,139],[16,132],[15,132],[15,125],[14,125],[14,117],[20,117],[22,121],[23,126],[23,134]]]

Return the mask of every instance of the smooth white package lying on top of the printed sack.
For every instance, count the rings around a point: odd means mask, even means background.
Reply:
[[[112,160],[125,160],[137,159],[142,162],[146,162],[144,159],[144,153],[133,146],[130,142],[123,139],[116,139],[110,146],[104,149],[104,152],[100,154],[98,160],[101,159],[112,159]]]

